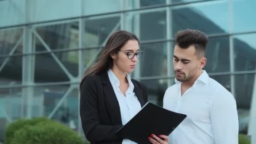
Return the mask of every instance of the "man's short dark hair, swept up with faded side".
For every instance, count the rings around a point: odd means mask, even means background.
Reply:
[[[185,29],[177,32],[175,44],[181,48],[195,46],[195,54],[198,58],[205,56],[205,49],[208,43],[208,37],[205,33],[195,29]]]

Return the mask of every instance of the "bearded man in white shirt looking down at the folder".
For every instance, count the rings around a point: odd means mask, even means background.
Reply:
[[[232,94],[203,70],[207,36],[186,29],[176,34],[175,82],[163,107],[187,115],[171,133],[171,144],[238,144],[238,116]]]

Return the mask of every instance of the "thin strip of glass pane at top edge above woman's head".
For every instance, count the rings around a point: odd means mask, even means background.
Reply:
[[[165,3],[166,0],[124,0],[127,9],[164,5]]]

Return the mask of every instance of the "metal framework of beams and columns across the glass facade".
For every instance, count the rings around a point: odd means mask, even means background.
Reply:
[[[21,24],[21,25],[15,25],[15,26],[9,26],[9,27],[0,27],[0,30],[2,29],[15,29],[16,27],[23,27],[23,35],[19,38],[17,43],[14,45],[12,50],[6,55],[0,55],[0,58],[5,58],[3,63],[0,65],[0,72],[3,70],[9,59],[13,56],[22,56],[22,84],[21,85],[0,85],[1,88],[22,88],[22,96],[21,96],[21,116],[30,118],[32,117],[32,104],[33,104],[33,94],[34,94],[34,87],[38,86],[53,86],[53,85],[67,85],[69,84],[69,88],[64,93],[63,97],[60,99],[59,103],[56,104],[56,106],[53,108],[52,112],[48,115],[48,118],[52,118],[53,115],[56,113],[56,111],[61,107],[62,104],[67,100],[67,97],[69,94],[77,89],[77,84],[80,83],[81,78],[83,77],[83,72],[85,72],[87,67],[84,67],[83,65],[83,50],[85,49],[97,49],[97,52],[94,54],[93,59],[89,62],[88,65],[91,65],[98,56],[99,52],[101,51],[100,48],[104,47],[105,43],[107,42],[107,39],[104,40],[104,42],[101,45],[96,45],[95,47],[86,48],[85,45],[83,45],[84,41],[84,35],[85,35],[85,18],[90,19],[99,19],[100,17],[112,17],[112,16],[120,16],[120,21],[117,22],[115,27],[112,29],[112,32],[117,30],[119,27],[121,29],[132,31],[132,25],[136,26],[136,29],[133,29],[135,34],[137,36],[140,36],[139,33],[139,25],[140,25],[140,15],[139,13],[148,13],[149,11],[159,11],[160,9],[163,9],[166,11],[166,30],[167,35],[166,39],[164,40],[147,40],[142,41],[141,43],[159,43],[159,42],[166,42],[167,43],[167,76],[156,76],[156,77],[141,77],[140,76],[140,69],[139,66],[135,70],[133,77],[135,77],[138,80],[158,80],[158,79],[168,79],[168,86],[172,85],[171,79],[174,78],[173,74],[173,67],[172,67],[172,45],[173,42],[173,30],[171,28],[171,10],[170,6],[173,5],[183,5],[183,4],[190,4],[190,3],[200,3],[205,1],[211,1],[211,0],[199,0],[196,2],[188,2],[188,3],[182,3],[182,4],[172,4],[171,0],[166,0],[166,5],[159,5],[159,6],[153,6],[153,7],[146,7],[146,8],[135,8],[131,10],[123,10],[123,11],[117,11],[112,13],[101,13],[96,15],[90,15],[90,16],[82,16],[83,14],[83,0],[80,0],[80,13],[81,16],[70,18],[70,19],[59,19],[59,20],[53,20],[53,21],[43,21],[43,22],[36,22],[36,23],[28,23],[28,24]],[[235,72],[235,61],[234,61],[234,45],[233,45],[233,37],[235,35],[242,35],[242,34],[250,34],[250,33],[256,33],[255,32],[240,32],[240,33],[233,33],[233,8],[232,8],[233,0],[229,0],[229,33],[227,34],[214,34],[209,35],[209,37],[221,37],[221,36],[229,36],[229,65],[230,65],[230,72],[218,72],[218,73],[210,73],[209,75],[215,76],[215,75],[229,75],[231,80],[231,92],[234,96],[235,94],[235,75],[240,74],[255,74],[256,77],[256,70],[255,71],[243,71],[243,72]],[[125,9],[124,6],[125,2],[124,0],[121,0],[121,6],[122,9]],[[136,1],[136,5],[139,7],[139,1]],[[132,21],[128,23],[129,19],[131,17],[125,17],[126,12],[130,11],[136,11],[136,14],[134,16],[134,23],[132,24]],[[26,19],[26,18],[25,18]],[[69,22],[79,22],[79,48],[75,49],[58,49],[58,50],[51,50],[50,46],[43,40],[43,38],[37,33],[37,30],[35,27],[42,27],[47,26],[49,24],[62,24],[62,23],[69,23]],[[112,33],[111,32],[111,33]],[[45,51],[39,51],[35,52],[35,39],[37,38],[39,42],[44,46]],[[21,44],[23,41],[23,53],[21,54],[14,54],[16,51],[16,48]],[[56,56],[54,52],[64,52],[64,51],[78,51],[78,76],[74,77],[69,70],[62,64],[61,60]],[[58,82],[58,83],[34,83],[34,72],[35,72],[35,55],[36,54],[42,54],[42,53],[49,53],[53,59],[56,61],[56,63],[61,67],[62,71],[67,75],[70,81],[68,82]],[[77,90],[79,93],[79,90]],[[78,97],[79,99],[79,97]],[[78,103],[79,105],[79,103]],[[8,122],[11,122],[12,119],[8,114],[5,112],[4,108],[0,106],[0,112],[3,112]],[[79,114],[79,109],[78,109]],[[252,135],[253,141],[256,141],[256,78],[254,81],[254,88],[253,88],[253,95],[252,95],[252,101],[251,101],[251,109],[250,109],[250,123],[249,123],[249,130],[248,134]],[[81,128],[81,122],[80,122],[80,116],[78,115],[78,132],[83,135],[82,128]],[[253,129],[254,128],[254,129]]]

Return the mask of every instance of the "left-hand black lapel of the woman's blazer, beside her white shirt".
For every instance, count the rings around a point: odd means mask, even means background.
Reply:
[[[121,119],[121,112],[120,112],[120,106],[117,100],[117,97],[115,95],[115,91],[110,83],[109,77],[107,75],[107,72],[104,72],[104,74],[101,76],[102,84],[103,84],[103,91],[104,91],[104,98],[107,105],[107,110],[109,113],[111,113],[109,116],[111,116],[111,121],[115,121],[117,124],[122,124]]]

